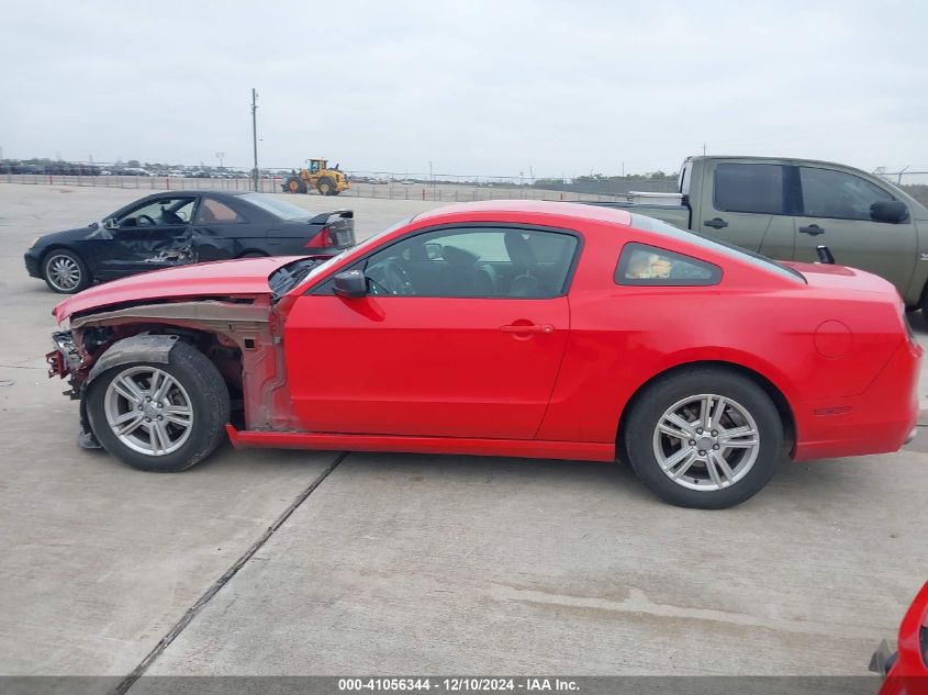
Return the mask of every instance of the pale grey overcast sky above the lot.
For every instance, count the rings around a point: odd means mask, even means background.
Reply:
[[[8,158],[577,176],[928,168],[928,2],[3,2]]]

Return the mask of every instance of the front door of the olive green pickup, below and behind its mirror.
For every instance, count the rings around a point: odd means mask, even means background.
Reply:
[[[896,200],[890,190],[825,166],[797,169],[802,199],[795,217],[795,260],[818,260],[816,247],[824,245],[835,262],[881,276],[904,294],[916,264],[915,224],[910,216],[895,223],[871,216],[874,203]]]

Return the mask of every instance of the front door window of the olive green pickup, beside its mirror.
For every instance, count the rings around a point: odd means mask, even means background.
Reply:
[[[807,217],[870,220],[870,206],[894,198],[860,177],[816,167],[800,167],[803,214]]]

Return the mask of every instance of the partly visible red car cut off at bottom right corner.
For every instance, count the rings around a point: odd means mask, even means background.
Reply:
[[[880,695],[928,693],[928,582],[899,625],[898,651],[890,652],[884,640],[870,661],[870,670],[885,676]]]

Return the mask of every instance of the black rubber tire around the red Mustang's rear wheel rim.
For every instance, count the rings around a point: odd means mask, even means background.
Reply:
[[[735,482],[726,486],[719,485],[715,490],[692,490],[684,486],[687,481],[690,484],[700,484],[700,481],[704,480],[705,484],[712,484],[709,467],[705,462],[700,462],[696,459],[691,463],[690,470],[692,472],[689,477],[683,475],[684,482],[681,483],[671,480],[671,477],[664,473],[656,453],[656,449],[660,448],[669,463],[671,458],[669,452],[673,449],[664,449],[663,447],[671,446],[674,439],[678,439],[679,448],[675,451],[681,451],[684,447],[689,448],[690,445],[693,445],[692,449],[697,450],[700,455],[703,451],[708,451],[709,456],[714,456],[712,449],[709,449],[714,446],[711,431],[693,429],[694,433],[701,431],[702,434],[693,434],[693,437],[700,438],[686,442],[668,435],[657,434],[664,413],[674,405],[702,394],[715,394],[734,401],[735,405],[753,418],[759,438],[759,444],[753,448],[757,451],[757,457],[752,463],[747,462],[750,458],[750,452],[747,449],[727,450],[731,460],[726,461],[726,463],[745,461],[746,472],[738,478],[736,466],[731,469],[735,473],[733,475],[736,479]],[[714,403],[717,403],[717,401]],[[726,408],[728,410],[726,411]],[[739,416],[733,405],[725,406],[722,412],[724,417]],[[687,419],[687,423],[695,427],[701,424],[696,421],[698,421],[698,415],[695,415],[693,419]],[[735,423],[736,426],[737,424]],[[724,430],[716,429],[713,431]],[[624,444],[628,461],[641,482],[666,502],[700,509],[722,509],[750,498],[770,481],[783,457],[783,423],[770,396],[749,378],[731,370],[715,367],[678,371],[659,378],[646,386],[646,390],[636,399],[634,410],[625,427],[624,439],[625,441],[620,444]],[[704,441],[708,442],[708,446],[702,444]],[[701,446],[705,448],[700,449]],[[720,444],[720,446],[722,451],[719,453],[726,453],[725,445]],[[745,458],[741,459],[740,457]],[[683,459],[683,463],[680,464],[681,468],[687,460],[689,458]],[[720,470],[718,467],[714,468],[716,471]],[[677,471],[679,469],[673,468],[671,470]],[[691,477],[695,480],[690,480]]]

